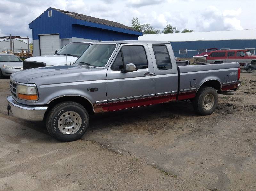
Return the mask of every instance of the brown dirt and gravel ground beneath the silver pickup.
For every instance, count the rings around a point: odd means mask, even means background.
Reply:
[[[7,115],[0,80],[0,190],[256,190],[256,74],[198,116],[188,101],[91,116],[81,140]]]

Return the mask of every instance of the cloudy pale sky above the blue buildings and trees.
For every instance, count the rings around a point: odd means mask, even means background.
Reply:
[[[256,0],[1,0],[0,36],[28,35],[32,42],[28,24],[49,7],[127,26],[137,17],[161,31],[166,24],[196,32],[256,28]]]

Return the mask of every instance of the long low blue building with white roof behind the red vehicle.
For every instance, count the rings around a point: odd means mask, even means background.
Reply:
[[[256,53],[256,29],[146,34],[139,40],[169,41],[177,58],[192,58],[208,48],[249,49],[252,54]]]

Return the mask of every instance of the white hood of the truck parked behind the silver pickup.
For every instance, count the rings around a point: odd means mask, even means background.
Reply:
[[[75,62],[77,57],[73,56],[64,56],[64,55],[47,55],[47,56],[36,56],[27,58],[25,61],[34,61],[34,62],[44,62],[46,65],[65,65],[70,62]]]

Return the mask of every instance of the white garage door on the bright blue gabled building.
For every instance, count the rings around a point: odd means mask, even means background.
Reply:
[[[56,50],[60,50],[60,36],[40,35],[40,55],[53,55]]]

